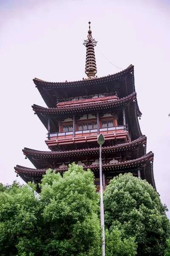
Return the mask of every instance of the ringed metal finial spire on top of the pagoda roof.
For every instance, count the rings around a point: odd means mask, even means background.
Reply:
[[[91,32],[91,22],[89,21],[89,30],[88,30],[88,40],[84,41],[84,45],[86,49],[86,61],[85,61],[85,73],[88,78],[93,78],[96,73],[96,59],[94,53],[94,47],[96,46],[97,42],[92,38]]]

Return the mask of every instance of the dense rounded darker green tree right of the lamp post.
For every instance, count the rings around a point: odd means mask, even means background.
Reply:
[[[111,181],[104,193],[105,226],[122,239],[135,238],[138,255],[163,255],[170,234],[167,207],[145,180],[128,173]]]

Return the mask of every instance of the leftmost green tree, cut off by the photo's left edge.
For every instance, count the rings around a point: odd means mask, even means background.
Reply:
[[[31,187],[0,184],[0,255],[17,255],[17,244],[24,237],[36,243],[37,200]],[[33,244],[32,244],[33,247]],[[20,254],[21,255],[21,254]]]

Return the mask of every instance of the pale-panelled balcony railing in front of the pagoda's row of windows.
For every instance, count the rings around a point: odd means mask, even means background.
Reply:
[[[128,131],[127,125],[118,125],[113,127],[106,127],[106,128],[99,128],[99,133],[102,134],[113,134],[118,132],[125,132]],[[81,130],[75,131],[75,137],[85,137],[85,136],[93,136],[97,135],[97,129],[88,129],[88,130]],[[73,131],[65,131],[65,132],[57,132],[57,133],[50,133],[48,134],[48,140],[55,139],[65,139],[65,138],[72,138]]]

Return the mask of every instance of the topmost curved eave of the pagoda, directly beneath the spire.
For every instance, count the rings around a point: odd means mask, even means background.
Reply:
[[[80,81],[65,81],[65,82],[48,82],[43,81],[40,79],[33,79],[34,84],[36,85],[37,89],[39,90],[42,99],[45,101],[46,105],[49,108],[54,108],[57,104],[57,97],[63,96],[63,90],[67,91],[69,93],[69,88],[79,88],[79,87],[96,87],[100,84],[110,84],[113,81],[125,81],[124,85],[121,86],[121,90],[124,91],[125,95],[129,95],[133,92],[135,92],[135,84],[134,84],[134,66],[130,65],[127,67],[127,69],[122,70],[119,73],[109,75],[109,76],[103,76],[100,78],[91,78],[91,79],[84,79]],[[63,90],[62,90],[63,89]],[[55,91],[55,93],[54,93]],[[54,96],[55,94],[55,96]],[[58,95],[58,96],[57,96]],[[124,95],[124,96],[125,96]],[[64,97],[65,98],[65,97]],[[69,96],[68,96],[69,98]]]

